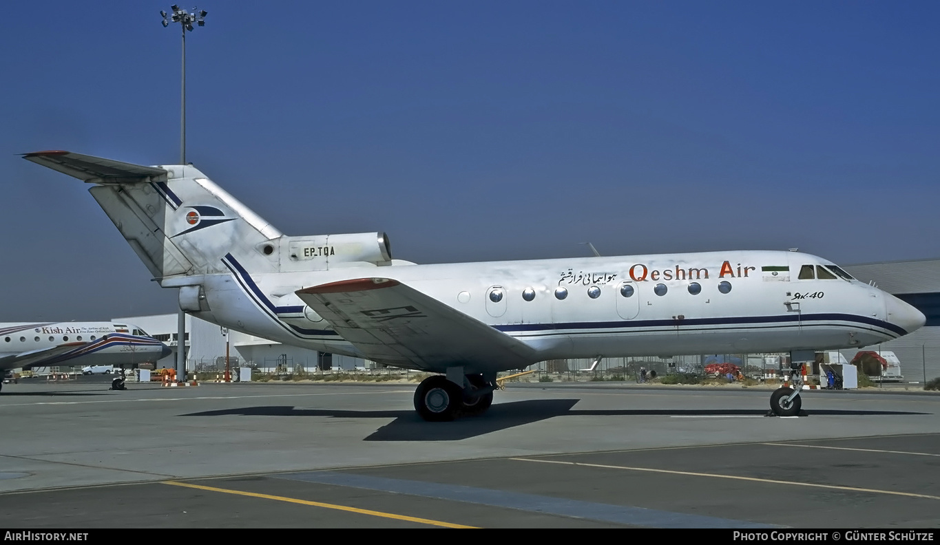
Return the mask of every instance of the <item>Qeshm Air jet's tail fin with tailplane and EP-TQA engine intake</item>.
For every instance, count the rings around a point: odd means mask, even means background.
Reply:
[[[24,159],[95,184],[88,191],[164,287],[194,286],[186,279],[202,274],[393,264],[384,233],[284,236],[191,165],[141,166],[69,151]]]

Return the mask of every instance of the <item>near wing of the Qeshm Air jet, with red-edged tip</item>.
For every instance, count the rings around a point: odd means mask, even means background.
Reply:
[[[522,341],[397,280],[343,280],[296,293],[382,364],[445,372],[448,366],[521,369],[538,361]]]

